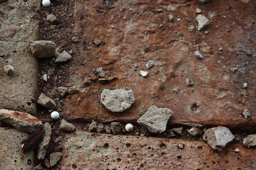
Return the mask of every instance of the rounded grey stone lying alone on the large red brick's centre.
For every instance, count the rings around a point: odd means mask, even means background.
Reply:
[[[108,90],[104,89],[101,93],[101,103],[112,112],[122,112],[128,109],[135,102],[132,90],[124,89]]]

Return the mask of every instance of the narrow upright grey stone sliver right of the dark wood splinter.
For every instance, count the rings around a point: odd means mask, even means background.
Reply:
[[[37,148],[37,158],[39,160],[45,159],[45,154],[47,152],[47,148],[49,146],[49,142],[51,140],[51,135],[52,135],[52,128],[48,122],[44,124],[43,130],[44,130],[43,140],[40,142]]]

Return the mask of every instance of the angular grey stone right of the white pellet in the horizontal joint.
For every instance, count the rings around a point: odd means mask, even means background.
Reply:
[[[173,115],[173,111],[168,108],[158,108],[151,106],[138,120],[138,124],[145,126],[152,133],[162,133],[166,130],[166,124]]]

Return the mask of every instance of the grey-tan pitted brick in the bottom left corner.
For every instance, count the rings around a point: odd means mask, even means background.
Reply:
[[[21,148],[21,141],[26,139],[28,134],[15,128],[6,129],[2,127],[0,127],[0,134],[0,169],[32,170],[35,153],[33,150],[23,153]]]

